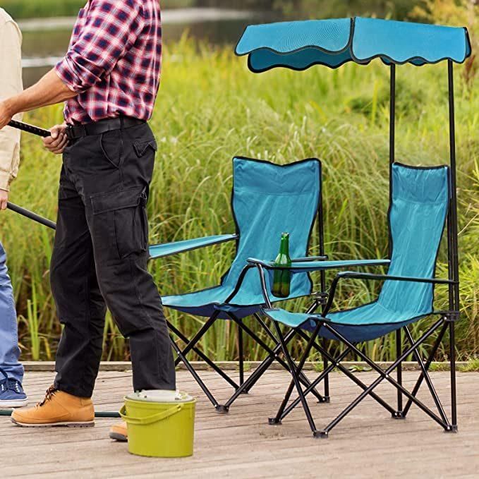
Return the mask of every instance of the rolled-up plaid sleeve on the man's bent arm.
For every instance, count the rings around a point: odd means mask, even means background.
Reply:
[[[91,0],[86,15],[78,40],[55,67],[77,93],[109,75],[145,26],[140,0]]]

